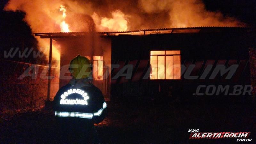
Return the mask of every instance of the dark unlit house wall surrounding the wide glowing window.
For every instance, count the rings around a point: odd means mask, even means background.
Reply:
[[[132,78],[126,80],[120,76],[115,77],[115,69],[112,70],[111,96],[117,97],[151,97],[159,98],[169,96],[180,97],[183,100],[206,100],[211,102],[216,98],[224,101],[233,101],[234,97],[224,94],[212,96],[195,96],[198,85],[250,85],[250,69],[248,49],[255,43],[255,36],[241,31],[219,31],[202,33],[173,33],[151,35],[119,35],[112,37],[112,64],[132,64],[134,66]],[[148,75],[150,50],[180,50],[181,51],[181,80],[149,80],[143,79]],[[134,62],[132,62],[134,61]],[[140,68],[141,61],[148,61],[145,68]],[[213,68],[205,78],[200,78],[205,66],[212,63]],[[228,68],[237,64],[236,73],[231,79],[225,79],[227,74],[218,73],[210,78],[214,68],[223,64]],[[186,73],[188,67],[193,70]],[[120,69],[120,68],[119,68]],[[137,71],[143,73],[139,80],[134,80]],[[199,76],[193,78],[193,76]],[[116,78],[116,77],[115,77]],[[245,98],[244,98],[245,97]],[[236,102],[247,100],[250,96],[240,96]],[[217,101],[218,102],[218,101]],[[218,102],[219,103],[219,102]]]

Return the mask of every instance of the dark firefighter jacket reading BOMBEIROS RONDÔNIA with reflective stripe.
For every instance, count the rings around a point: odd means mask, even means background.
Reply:
[[[63,86],[54,97],[53,110],[58,118],[100,123],[106,116],[107,104],[102,92],[93,84],[74,87],[71,84]]]

